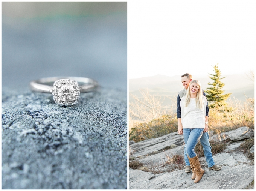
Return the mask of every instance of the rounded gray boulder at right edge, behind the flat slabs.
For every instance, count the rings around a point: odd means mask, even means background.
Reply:
[[[240,127],[238,129],[227,132],[227,135],[232,141],[239,141],[245,138],[254,137],[254,130],[248,127]]]

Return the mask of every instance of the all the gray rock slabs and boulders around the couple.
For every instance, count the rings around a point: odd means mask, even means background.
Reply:
[[[215,164],[221,165],[222,169],[209,171],[206,163],[203,167],[206,174],[197,184],[191,180],[192,174],[185,173],[184,169],[154,174],[129,168],[129,189],[244,189],[254,179],[254,163],[251,163],[242,151],[236,152],[236,149],[244,143],[243,139],[254,136],[252,132],[253,129],[241,127],[226,132],[225,136],[220,135],[222,140],[231,137],[239,141],[230,141],[224,152],[213,155]],[[218,139],[217,136],[212,134],[211,138]],[[150,164],[165,164],[170,154],[183,155],[184,138],[175,132],[133,143],[130,150],[135,159],[145,164],[146,169]],[[200,158],[200,161],[205,161],[204,157]]]

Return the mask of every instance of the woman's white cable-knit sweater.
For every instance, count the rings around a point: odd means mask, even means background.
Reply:
[[[184,128],[204,128],[205,127],[205,112],[206,112],[206,97],[203,96],[204,107],[196,108],[195,98],[190,98],[189,105],[185,107],[185,96],[180,100],[181,108],[181,123]]]

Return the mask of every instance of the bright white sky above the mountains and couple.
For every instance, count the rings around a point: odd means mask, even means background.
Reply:
[[[254,69],[255,1],[129,1],[128,78]]]

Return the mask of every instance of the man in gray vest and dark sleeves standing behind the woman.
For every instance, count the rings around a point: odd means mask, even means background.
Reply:
[[[187,88],[189,86],[189,83],[192,81],[192,75],[191,74],[183,74],[181,76],[181,82],[182,85],[184,86],[184,89],[181,90],[178,93],[178,97],[177,97],[177,118],[178,118],[178,128],[182,128],[182,124],[181,124],[181,109],[180,109],[180,100],[183,96],[186,95],[187,93]],[[203,90],[203,89],[202,89]],[[203,90],[203,95],[206,96],[206,94],[204,93]],[[207,106],[206,106],[206,116],[208,118],[208,113],[209,113],[209,107],[208,107],[208,102],[207,102]],[[205,129],[203,131],[203,135],[200,138],[200,143],[203,146],[204,149],[204,156],[206,159],[206,162],[208,164],[208,169],[209,170],[220,170],[222,167],[218,166],[214,163],[213,158],[212,158],[212,147],[210,146],[210,142],[209,142],[209,135],[208,135],[208,122],[206,122],[205,125]],[[184,147],[184,158],[185,158],[185,162],[186,162],[186,168],[185,168],[185,172],[189,173],[192,171],[191,167],[190,167],[190,163],[189,163],[189,159],[187,158],[187,153],[186,153],[186,145]]]

